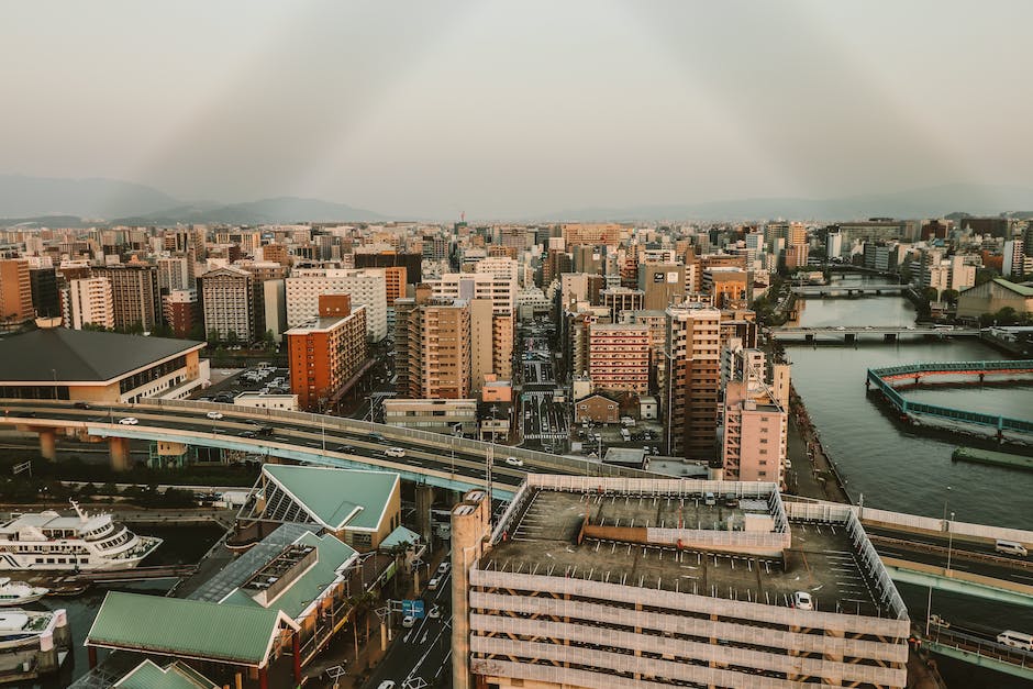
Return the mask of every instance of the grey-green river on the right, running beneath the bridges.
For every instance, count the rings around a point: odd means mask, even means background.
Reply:
[[[848,278],[857,281],[857,278]],[[800,325],[910,325],[914,308],[899,297],[808,299]],[[791,345],[797,392],[821,434],[822,444],[847,481],[856,501],[868,507],[962,521],[1033,530],[1033,473],[953,462],[962,438],[912,431],[865,394],[868,368],[915,362],[1008,358],[971,338],[858,343],[851,346]],[[959,409],[1033,419],[1033,385],[912,390],[909,398]],[[929,592],[900,586],[911,616],[924,620]],[[965,620],[987,631],[1033,632],[1033,611],[976,598],[933,592],[932,610],[947,620]],[[1017,678],[937,657],[952,687],[1029,687]]]

